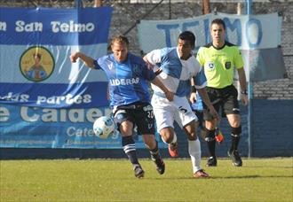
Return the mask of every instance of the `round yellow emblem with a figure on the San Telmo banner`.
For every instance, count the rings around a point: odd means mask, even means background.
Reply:
[[[20,72],[32,82],[43,82],[52,74],[55,66],[51,52],[41,46],[33,46],[20,57]]]

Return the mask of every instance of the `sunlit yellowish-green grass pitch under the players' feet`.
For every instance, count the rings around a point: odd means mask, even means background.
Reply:
[[[141,159],[136,179],[126,159],[1,160],[0,201],[293,201],[292,162],[218,159],[203,167],[210,179],[194,179],[189,159],[165,159],[164,175]]]

